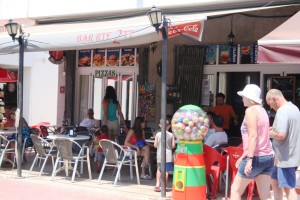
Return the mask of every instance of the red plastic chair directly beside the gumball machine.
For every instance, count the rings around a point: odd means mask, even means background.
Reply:
[[[226,170],[226,157],[205,144],[203,145],[203,153],[207,185],[210,188],[211,197],[216,198],[220,173]],[[211,175],[213,176],[213,182],[210,179]]]

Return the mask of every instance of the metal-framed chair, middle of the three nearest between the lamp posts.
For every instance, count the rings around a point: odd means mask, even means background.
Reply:
[[[88,166],[89,178],[92,179],[90,157],[87,156],[89,155],[89,148],[87,148],[86,146],[81,147],[77,142],[68,138],[57,138],[53,141],[53,143],[58,149],[58,155],[55,162],[55,166],[53,168],[51,180],[53,180],[56,173],[61,170],[61,169],[56,170],[58,163],[64,163],[63,168],[65,169],[67,176],[68,176],[68,170],[69,169],[72,170],[72,167],[69,166],[69,164],[73,163],[74,167],[73,167],[73,174],[72,174],[71,181],[74,182],[75,173],[77,172],[77,165],[79,160],[81,160],[81,171],[80,171],[81,174],[83,171],[83,161],[85,161],[87,162],[87,166]],[[80,150],[78,154],[73,153],[72,149],[74,146],[76,146]],[[84,153],[84,149],[87,149],[86,154]],[[78,172],[77,175],[80,176]]]

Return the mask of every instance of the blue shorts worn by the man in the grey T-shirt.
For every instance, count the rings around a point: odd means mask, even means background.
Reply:
[[[279,188],[295,188],[296,170],[297,167],[280,168],[274,166],[272,179],[278,181]]]

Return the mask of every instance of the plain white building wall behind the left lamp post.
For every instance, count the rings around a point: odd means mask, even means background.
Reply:
[[[24,55],[23,115],[29,125],[42,121],[57,124],[58,116],[63,116],[64,103],[58,107],[60,67],[50,63],[48,57],[45,52]],[[18,69],[18,65],[19,54],[0,55],[2,68]]]

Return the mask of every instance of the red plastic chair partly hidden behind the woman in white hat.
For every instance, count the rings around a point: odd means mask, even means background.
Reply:
[[[243,155],[244,150],[241,147],[233,147],[233,146],[227,147],[226,150],[227,150],[227,155],[229,156],[229,168],[231,172],[231,180],[233,182],[234,177],[238,171],[238,169],[235,167],[235,163]],[[247,200],[252,199],[254,187],[255,187],[255,180],[251,181],[248,185]]]

